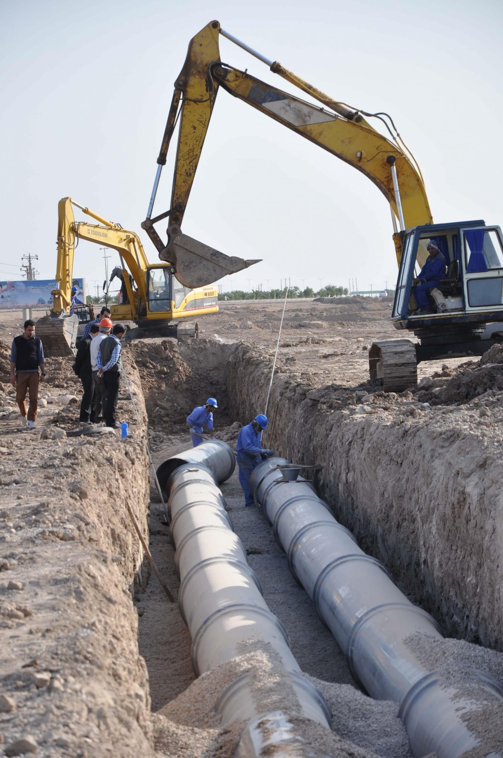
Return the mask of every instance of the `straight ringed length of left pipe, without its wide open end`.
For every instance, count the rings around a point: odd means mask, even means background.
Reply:
[[[258,758],[272,754],[270,750],[277,758],[327,758],[301,738],[291,719],[300,716],[330,729],[330,709],[320,691],[301,675],[286,631],[262,597],[214,474],[186,463],[171,471],[165,486],[180,575],[178,602],[192,637],[195,673],[208,672],[258,645],[281,663],[276,688],[279,685],[282,694],[288,691],[298,703],[292,714],[270,707],[264,712],[258,695],[261,682],[255,681],[254,672],[233,681],[215,707],[223,725],[237,719],[248,722],[236,758]]]

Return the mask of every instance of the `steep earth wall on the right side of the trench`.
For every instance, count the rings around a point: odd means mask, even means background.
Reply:
[[[243,423],[263,412],[270,369],[249,346],[230,357],[227,386]],[[501,454],[449,413],[393,425],[321,409],[315,394],[276,374],[265,446],[323,466],[320,496],[444,634],[501,650]]]

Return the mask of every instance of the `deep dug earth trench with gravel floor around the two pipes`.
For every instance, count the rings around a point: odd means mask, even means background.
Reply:
[[[234,421],[248,423],[263,410],[270,379],[270,355],[264,351],[212,340],[183,344],[180,348],[173,340],[163,343],[148,340],[135,348],[135,356],[155,465],[190,446],[185,416],[207,396],[217,397],[219,412],[215,426],[223,431],[222,438],[231,445],[237,436],[231,424]],[[499,648],[498,612],[491,616],[484,603],[473,603],[470,594],[464,592],[467,572],[473,571],[476,562],[482,564],[486,553],[482,550],[470,556],[470,546],[465,545],[464,571],[460,575],[463,565],[458,562],[445,572],[452,550],[451,540],[447,538],[451,529],[448,518],[445,518],[443,534],[436,529],[433,545],[420,535],[420,529],[431,531],[428,518],[434,514],[423,506],[417,487],[411,485],[417,476],[417,464],[413,465],[414,443],[402,445],[405,449],[398,465],[393,460],[393,446],[383,449],[383,434],[394,437],[398,434],[395,428],[380,427],[373,418],[358,424],[350,424],[347,418],[334,418],[333,409],[321,409],[318,402],[308,398],[308,390],[298,381],[292,381],[284,371],[276,374],[269,416],[271,423],[274,420],[273,437],[268,437],[264,444],[290,460],[323,465],[320,496],[333,509],[339,522],[353,531],[361,547],[386,565],[401,590],[432,613],[443,633]],[[343,428],[344,422],[348,428]],[[401,434],[403,437],[403,431]],[[440,443],[433,451],[437,455],[436,465],[442,467],[448,479],[448,462],[438,460],[439,449],[442,449]],[[389,476],[390,465],[398,468],[400,487],[393,478],[396,472]],[[406,465],[411,466],[411,471],[404,476],[400,471]],[[384,473],[379,474],[379,468],[388,472],[388,487],[383,484],[386,477]],[[432,486],[431,481],[428,486]],[[458,490],[453,494],[448,485],[442,487],[434,504],[438,506],[443,498],[443,508],[448,512],[458,503],[460,495]],[[370,700],[358,690],[342,650],[318,619],[305,591],[292,578],[270,525],[257,509],[245,509],[237,471],[222,485],[222,492],[234,531],[245,545],[248,563],[261,581],[264,600],[289,634],[292,653],[302,671],[314,679],[327,700],[336,706],[333,722],[336,733],[368,751],[362,755],[406,758],[411,754],[410,747],[405,729],[396,718],[397,706]],[[455,503],[449,500],[453,496]],[[177,594],[179,580],[169,531],[164,523],[164,507],[152,485],[151,498],[150,549],[167,584]],[[461,537],[457,539],[461,542]],[[438,565],[433,565],[431,550],[436,553]],[[488,575],[488,567],[480,565],[480,570]],[[443,574],[439,576],[441,571]],[[489,579],[494,594],[501,583],[498,584],[497,575]],[[214,748],[215,752],[201,752],[189,723],[173,706],[180,700],[190,712],[197,702],[198,689],[190,658],[191,639],[177,605],[167,601],[152,575],[146,586],[136,587],[136,610],[139,652],[148,669],[156,747],[161,754],[173,756],[189,755],[191,750],[197,756],[226,754],[221,745],[218,750]],[[494,661],[492,659],[493,664]],[[499,658],[498,665],[501,665]],[[192,690],[194,700],[187,694]],[[177,730],[185,730],[183,740],[188,752],[177,752],[180,744],[177,740],[173,742],[173,731],[170,731],[173,727],[167,728],[166,719],[174,719]],[[174,744],[179,747],[173,747]]]

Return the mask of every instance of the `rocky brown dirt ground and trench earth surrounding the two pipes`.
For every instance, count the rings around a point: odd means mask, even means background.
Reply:
[[[336,518],[453,638],[423,650],[437,669],[503,682],[503,352],[420,364],[417,388],[385,395],[367,381],[367,351],[405,336],[391,305],[287,302],[264,446],[322,465],[320,496]],[[217,437],[235,447],[240,425],[264,412],[282,310],[224,302],[198,319],[199,340],[126,346],[127,440],[67,436],[81,396],[70,358],[47,360],[37,428],[21,430],[8,384],[21,314],[0,313],[0,755],[233,756],[243,725],[220,728],[214,704],[248,669],[272,678],[273,662],[251,650],[195,678],[189,631],[149,572],[127,505],[176,596],[145,440],[156,465],[187,449],[186,415],[215,396]],[[332,732],[306,727],[311,744],[334,758],[410,756],[397,704],[357,688],[264,515],[245,509],[236,472],[222,490],[265,600],[333,710]],[[492,707],[470,728],[501,750],[502,722]]]

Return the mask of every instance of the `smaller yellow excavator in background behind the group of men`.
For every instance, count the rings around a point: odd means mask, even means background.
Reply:
[[[75,221],[73,206],[98,224]],[[148,263],[136,233],[107,221],[70,197],[64,197],[58,203],[56,280],[59,287],[51,293],[52,311],[36,322],[36,333],[48,356],[71,355],[77,344],[79,323],[90,315],[89,306],[72,307],[73,256],[80,240],[119,253],[120,268],[115,269],[114,274],[118,274],[122,282],[121,302],[110,308],[112,321],[134,323],[126,333],[126,341],[142,337],[195,337],[197,321],[186,319],[218,312],[218,293],[214,285],[196,289],[185,287],[177,280],[172,265]]]

